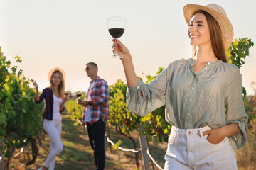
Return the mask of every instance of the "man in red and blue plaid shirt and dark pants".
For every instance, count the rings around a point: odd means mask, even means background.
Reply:
[[[87,126],[90,145],[94,150],[96,169],[100,170],[105,168],[105,127],[109,115],[109,89],[107,81],[97,76],[97,64],[87,63],[85,71],[91,79],[90,87],[85,100],[78,98],[78,104],[84,106],[82,123]]]

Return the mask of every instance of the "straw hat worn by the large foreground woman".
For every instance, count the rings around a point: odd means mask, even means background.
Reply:
[[[188,4],[183,8],[183,15],[186,19],[186,23],[188,26],[190,25],[191,18],[196,11],[206,11],[210,13],[213,18],[217,21],[220,26],[220,30],[222,33],[223,43],[225,50],[228,49],[231,42],[233,41],[233,26],[227,18],[227,14],[225,10],[217,5],[217,4],[208,4],[207,6],[201,6],[196,4]]]

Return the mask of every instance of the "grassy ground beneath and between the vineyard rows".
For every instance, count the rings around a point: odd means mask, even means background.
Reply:
[[[86,135],[85,129],[82,125],[75,126],[73,122],[68,118],[67,113],[63,113],[63,130],[62,130],[62,141],[63,141],[63,152],[61,152],[55,164],[56,170],[90,170],[95,169],[95,163],[93,159],[93,152],[90,147],[89,139]],[[119,140],[122,141],[120,147],[127,149],[133,149],[131,140],[127,139],[122,135],[117,134],[114,128],[110,128],[110,139],[116,143]],[[136,140],[137,148],[139,148],[138,132],[133,132],[131,136]],[[45,135],[44,140],[41,140],[42,145],[39,147],[39,154],[35,164],[28,166],[26,169],[38,169],[43,165],[49,152],[49,139]],[[166,143],[160,144],[155,147],[150,143],[151,155],[156,159],[156,162],[163,168],[164,167],[164,154],[166,152]],[[247,143],[242,149],[235,151],[235,156],[238,159],[239,170],[251,170],[256,169],[256,137],[255,131],[250,131],[247,135]],[[18,152],[18,151],[16,151]],[[108,170],[119,170],[119,169],[143,169],[142,168],[142,157],[139,153],[139,167],[137,167],[134,153],[133,152],[122,152],[114,147],[107,145],[106,149],[106,166]],[[20,154],[18,157],[11,159],[10,169],[25,169],[28,158],[26,154]],[[152,168],[151,168],[152,169]],[[157,167],[154,166],[157,170]]]

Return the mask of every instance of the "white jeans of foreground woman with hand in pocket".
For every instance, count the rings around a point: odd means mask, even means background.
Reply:
[[[173,126],[164,157],[164,169],[238,169],[228,137],[219,144],[212,144],[207,140],[208,135],[202,134],[206,130],[210,127],[178,129]]]

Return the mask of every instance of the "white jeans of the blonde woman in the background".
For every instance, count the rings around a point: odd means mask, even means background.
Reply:
[[[50,153],[44,162],[43,166],[53,170],[55,166],[56,155],[63,150],[63,144],[60,140],[61,133],[61,119],[43,120],[43,129],[46,130],[48,137],[50,137]]]

